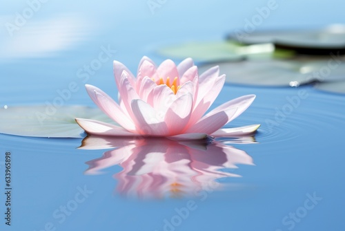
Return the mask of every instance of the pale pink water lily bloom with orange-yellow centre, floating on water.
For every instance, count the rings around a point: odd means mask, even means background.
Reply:
[[[143,57],[137,77],[120,62],[114,61],[119,103],[95,86],[86,85],[90,98],[119,125],[77,118],[87,133],[101,136],[161,136],[175,140],[201,139],[206,136],[242,136],[259,127],[221,129],[237,118],[255,99],[244,95],[208,112],[221,91],[225,75],[215,66],[198,75],[193,59],[178,66],[166,59],[157,68]],[[203,116],[204,115],[204,116]]]

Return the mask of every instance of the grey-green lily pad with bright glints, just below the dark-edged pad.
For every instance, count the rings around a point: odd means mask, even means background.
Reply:
[[[241,62],[215,62],[199,68],[202,73],[218,65],[226,74],[226,82],[258,86],[299,86],[310,82],[345,80],[345,64],[329,59],[271,59],[244,60]]]

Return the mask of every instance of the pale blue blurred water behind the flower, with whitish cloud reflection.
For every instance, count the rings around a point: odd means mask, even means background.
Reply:
[[[143,55],[158,64],[165,59],[157,53],[164,46],[222,41],[238,31],[319,29],[345,20],[342,3],[335,0],[82,4],[32,0],[1,1],[1,6],[1,104],[44,103],[42,100],[54,98],[57,87],[66,87],[70,80],[76,80],[81,87],[84,82],[98,84],[108,92],[114,89],[109,77],[112,59],[135,73]],[[264,8],[270,10],[266,13]],[[262,20],[248,26],[260,10]],[[102,48],[112,50],[111,57],[99,66],[94,64],[97,70],[91,70],[89,77],[81,77],[86,73],[85,66],[98,59]],[[68,103],[80,103],[84,93],[78,91]]]

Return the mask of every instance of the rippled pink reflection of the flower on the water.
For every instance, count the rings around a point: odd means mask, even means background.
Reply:
[[[235,169],[237,164],[253,165],[253,159],[245,151],[226,145],[226,142],[255,141],[252,137],[192,142],[88,136],[79,148],[112,148],[101,158],[88,161],[86,174],[101,174],[103,169],[120,165],[123,170],[114,175],[120,194],[164,198],[196,196],[209,187],[220,190],[223,185],[215,181],[217,178],[239,176],[226,169]]]

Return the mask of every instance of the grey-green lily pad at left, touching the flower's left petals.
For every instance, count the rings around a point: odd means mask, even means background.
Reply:
[[[86,136],[75,118],[111,122],[99,109],[83,106],[6,107],[0,109],[0,133],[17,136],[82,138]]]

